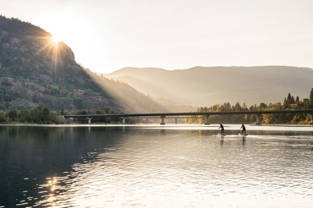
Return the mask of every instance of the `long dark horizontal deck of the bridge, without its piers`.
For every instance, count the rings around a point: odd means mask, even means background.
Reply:
[[[189,112],[189,113],[153,113],[153,114],[98,114],[98,115],[64,115],[65,119],[68,118],[101,118],[101,117],[177,117],[179,116],[210,116],[210,115],[242,115],[242,114],[282,114],[282,113],[313,113],[313,109],[295,109],[295,110],[256,110],[256,111],[225,111],[225,112]]]

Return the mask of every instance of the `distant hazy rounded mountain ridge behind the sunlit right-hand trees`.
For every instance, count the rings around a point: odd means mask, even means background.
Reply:
[[[144,70],[154,75],[138,73]],[[106,76],[127,82],[152,96],[206,106],[228,101],[249,105],[273,103],[283,101],[288,92],[306,98],[313,80],[313,69],[292,66],[196,66],[184,70],[153,70],[127,67]]]

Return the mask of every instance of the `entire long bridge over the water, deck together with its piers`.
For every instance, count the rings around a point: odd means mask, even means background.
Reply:
[[[191,119],[191,118],[201,118],[205,117],[205,124],[208,125],[210,115],[256,115],[256,123],[260,125],[260,115],[262,114],[288,114],[288,113],[306,113],[311,116],[311,122],[309,125],[313,125],[312,115],[313,109],[295,109],[295,110],[256,110],[256,111],[225,111],[225,112],[190,112],[190,113],[155,113],[155,114],[101,114],[101,115],[64,115],[64,119],[69,118],[85,118],[90,120],[93,118],[121,118],[123,119],[123,124],[125,124],[125,119],[156,119],[161,118],[161,125],[164,125],[164,118],[175,119],[175,124],[177,124],[177,119]],[[200,117],[199,117],[200,116]]]

